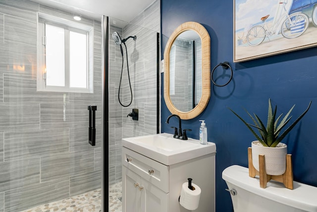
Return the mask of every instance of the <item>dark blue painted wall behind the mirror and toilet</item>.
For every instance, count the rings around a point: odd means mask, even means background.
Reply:
[[[265,120],[268,98],[273,106],[278,105],[278,114],[286,113],[296,104],[294,117],[298,117],[313,100],[308,114],[283,142],[288,144],[288,152],[293,154],[294,180],[317,186],[317,141],[314,134],[317,132],[317,47],[233,63],[233,0],[161,0],[162,57],[168,37],[186,21],[201,23],[208,30],[211,69],[228,61],[234,70],[233,79],[227,86],[211,85],[211,99],[206,110],[199,117],[182,122],[183,129],[193,130],[188,132],[188,137],[198,139],[198,120],[205,119],[208,140],[216,143],[216,212],[232,211],[221,172],[233,164],[247,167],[247,148],[255,140],[227,107],[242,115],[245,115],[243,108],[246,108]],[[221,71],[221,68],[217,70]],[[177,126],[177,123],[176,119],[171,119],[169,125],[165,124],[169,115],[162,97],[161,131],[172,134],[170,126]]]

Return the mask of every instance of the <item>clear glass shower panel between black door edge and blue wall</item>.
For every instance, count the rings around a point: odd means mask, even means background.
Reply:
[[[157,4],[153,6],[157,6]],[[140,15],[140,18],[144,18],[143,14]],[[130,23],[111,17],[108,20],[107,88],[109,96],[108,104],[106,105],[106,111],[108,111],[108,141],[106,143],[108,143],[109,148],[108,184],[110,212],[121,212],[122,210],[121,139],[157,134],[159,126],[158,33],[155,30],[139,26],[137,21],[140,21],[138,17]],[[125,41],[125,45],[121,45],[123,56],[120,46],[112,39],[114,32],[122,40],[130,36],[136,36],[135,40],[132,38],[128,39]],[[129,66],[129,71],[127,66]],[[132,96],[129,81],[132,87]],[[123,105],[128,105],[131,98],[133,98],[131,105],[128,107],[121,106],[118,100],[119,95]],[[138,120],[133,120],[132,117],[128,116],[133,109],[138,109]]]

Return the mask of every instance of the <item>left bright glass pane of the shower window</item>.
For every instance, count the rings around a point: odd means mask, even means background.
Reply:
[[[46,24],[46,84],[65,86],[64,29]]]

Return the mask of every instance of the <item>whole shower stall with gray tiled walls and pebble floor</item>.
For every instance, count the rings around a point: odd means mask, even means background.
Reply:
[[[0,212],[61,210],[60,203],[106,212],[112,200],[120,201],[121,139],[158,132],[159,0],[129,23],[82,17],[92,26],[90,92],[39,91],[38,71],[46,76],[38,66],[39,13],[73,20],[29,0],[0,1]],[[122,56],[113,32],[137,36],[125,42],[133,93],[128,107],[118,102]],[[122,73],[120,100],[126,104],[126,67]],[[89,143],[89,108],[95,145]],[[138,121],[127,117],[135,108]]]

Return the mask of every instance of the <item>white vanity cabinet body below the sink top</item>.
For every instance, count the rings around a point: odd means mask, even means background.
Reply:
[[[178,201],[187,178],[202,190],[195,212],[215,211],[215,146],[211,153],[196,157],[189,151],[191,159],[175,156],[163,164],[151,158],[151,151],[141,154],[125,145],[129,144],[125,141],[122,147],[122,212],[188,212]]]

